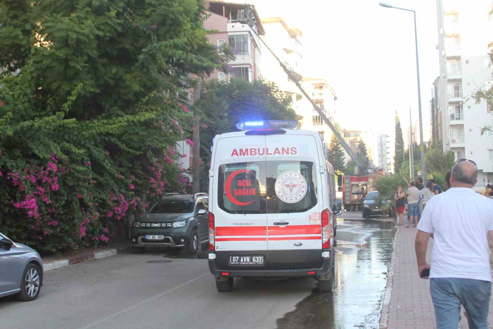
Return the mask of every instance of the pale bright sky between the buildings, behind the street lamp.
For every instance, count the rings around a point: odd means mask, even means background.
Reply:
[[[325,79],[336,91],[336,119],[348,130],[390,136],[394,154],[395,111],[402,130],[418,120],[414,17],[370,0],[258,0],[261,17],[282,16],[302,31],[302,75]],[[388,0],[416,10],[424,140],[429,140],[429,101],[439,75],[434,0]],[[277,14],[275,14],[277,13]],[[268,36],[267,36],[268,38]],[[407,140],[407,133],[404,133]],[[420,140],[418,138],[418,140]],[[392,161],[393,162],[393,161]]]

